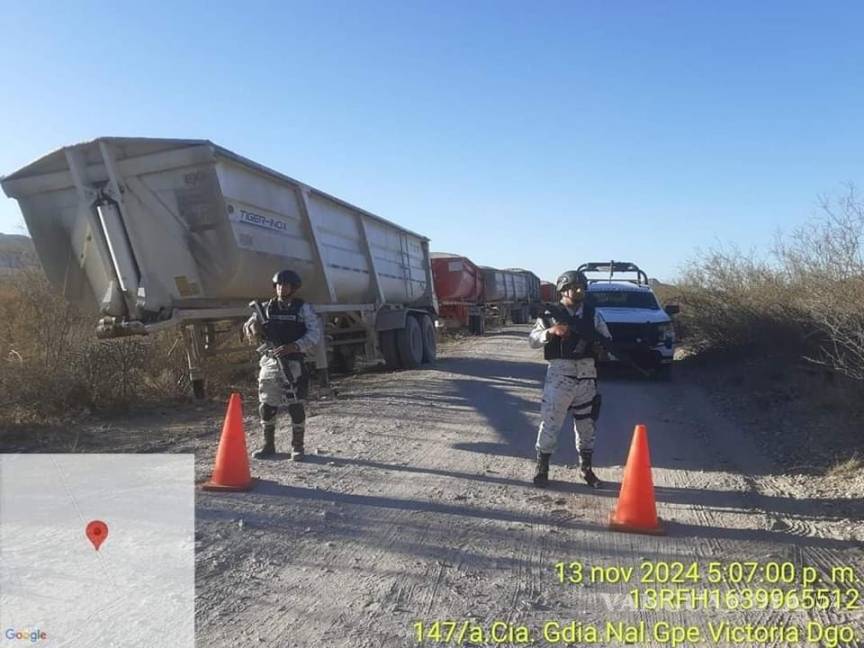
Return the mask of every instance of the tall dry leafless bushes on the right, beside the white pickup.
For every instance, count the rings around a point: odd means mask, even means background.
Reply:
[[[779,238],[770,261],[711,250],[677,290],[696,349],[789,352],[864,381],[864,206],[853,188]]]

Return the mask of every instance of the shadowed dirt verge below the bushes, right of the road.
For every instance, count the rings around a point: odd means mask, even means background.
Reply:
[[[770,487],[836,512],[831,532],[864,543],[862,388],[795,358],[679,363],[773,466]]]

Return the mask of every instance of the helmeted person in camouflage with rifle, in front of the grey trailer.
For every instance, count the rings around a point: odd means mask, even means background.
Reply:
[[[266,324],[262,327],[253,315],[243,326],[249,339],[264,337],[271,344],[259,363],[258,411],[264,431],[264,445],[254,454],[259,459],[276,454],[276,413],[286,405],[292,423],[291,459],[303,460],[304,402],[309,392],[304,354],[321,341],[321,322],[310,304],[295,297],[300,286],[296,272],[277,272],[273,276],[276,297],[263,308]]]

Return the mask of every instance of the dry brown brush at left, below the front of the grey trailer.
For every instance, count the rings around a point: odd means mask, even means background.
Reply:
[[[83,409],[179,397],[186,374],[176,333],[100,341],[37,270],[0,282],[0,416],[62,418]]]

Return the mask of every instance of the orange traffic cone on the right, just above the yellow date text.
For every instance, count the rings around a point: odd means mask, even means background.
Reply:
[[[657,517],[651,455],[648,452],[648,429],[644,425],[637,425],[633,431],[624,479],[621,480],[621,493],[615,511],[609,516],[609,528],[627,533],[666,533]]]

